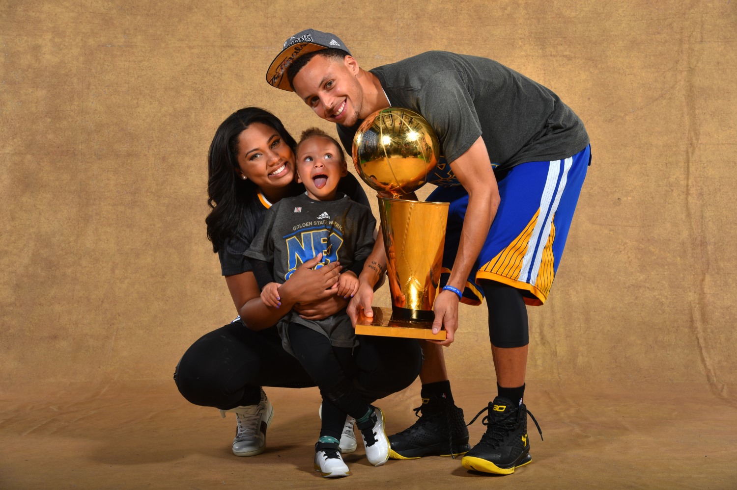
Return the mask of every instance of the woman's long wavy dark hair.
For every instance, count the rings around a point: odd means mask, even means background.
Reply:
[[[279,118],[260,107],[245,107],[232,113],[217,128],[207,155],[207,204],[212,208],[205,219],[207,238],[217,252],[227,238],[249,226],[255,227],[258,187],[240,177],[238,135],[254,122],[276,129],[292,151],[296,141]]]

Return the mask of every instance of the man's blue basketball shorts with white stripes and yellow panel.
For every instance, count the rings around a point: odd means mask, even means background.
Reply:
[[[522,292],[528,305],[542,305],[548,299],[590,157],[587,146],[563,160],[522,163],[497,182],[501,202],[462,302],[481,304],[478,280],[511,285]],[[439,187],[427,201],[450,202],[441,274],[444,285],[458,251],[468,193],[460,185]]]

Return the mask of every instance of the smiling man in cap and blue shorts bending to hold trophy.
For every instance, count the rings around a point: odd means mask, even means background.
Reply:
[[[443,158],[427,200],[450,208],[449,274],[433,306],[433,331],[444,327],[447,339],[425,341],[422,417],[389,438],[391,457],[465,453],[467,469],[501,475],[528,464],[525,305],[545,302],[565,246],[590,162],[581,120],[551,90],[493,60],[427,52],[365,71],[337,36],[314,29],[284,43],[266,78],[335,122],[349,152],[363,118],[385,107],[415,110],[435,129]],[[353,319],[361,310],[371,316],[385,263],[377,240],[349,305]],[[479,413],[487,412],[486,433],[469,450],[441,346],[454,340],[458,302],[478,305],[483,297],[497,397]]]

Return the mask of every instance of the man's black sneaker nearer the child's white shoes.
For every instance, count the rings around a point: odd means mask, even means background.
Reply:
[[[408,429],[389,436],[389,458],[417,459],[422,456],[457,456],[471,449],[463,410],[445,398],[423,398],[414,409],[419,417]],[[422,412],[422,416],[419,415]]]

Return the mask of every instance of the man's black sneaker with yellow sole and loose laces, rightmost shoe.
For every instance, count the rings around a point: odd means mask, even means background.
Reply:
[[[481,436],[481,441],[464,455],[461,460],[463,467],[477,472],[509,475],[514,473],[515,468],[529,464],[532,456],[527,437],[529,413],[527,407],[524,404],[515,407],[509,400],[496,397],[494,402],[490,402],[476,414],[469,425],[484,411],[486,416],[481,419],[481,423],[486,425],[486,433]],[[542,430],[537,420],[532,413],[529,415],[542,439]]]

